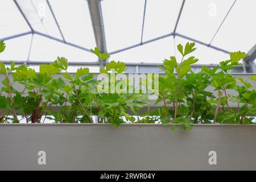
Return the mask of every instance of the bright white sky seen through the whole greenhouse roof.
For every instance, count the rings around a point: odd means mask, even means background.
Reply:
[[[49,0],[67,42],[85,48],[94,48],[92,22],[85,0]],[[174,31],[182,0],[147,0],[143,41]],[[177,26],[179,34],[209,43],[234,0],[187,0]],[[61,39],[46,0],[18,0],[20,7],[34,30]],[[109,52],[141,42],[144,0],[101,1],[102,15]],[[213,39],[212,45],[227,51],[249,51],[256,40],[256,1],[237,0],[224,24]],[[30,31],[13,0],[0,1],[0,39]],[[0,60],[53,61],[65,56],[69,61],[96,61],[92,53],[63,43],[34,35],[28,57],[31,35],[6,41],[6,51]],[[125,62],[160,63],[175,55],[177,44],[188,40],[168,37],[119,52],[110,59]],[[200,64],[219,63],[229,55],[196,44],[195,56]],[[177,51],[176,51],[177,53]],[[179,57],[177,55],[177,57]]]

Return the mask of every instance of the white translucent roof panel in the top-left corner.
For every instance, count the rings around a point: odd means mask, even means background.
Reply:
[[[0,38],[30,31],[14,1],[0,1]]]

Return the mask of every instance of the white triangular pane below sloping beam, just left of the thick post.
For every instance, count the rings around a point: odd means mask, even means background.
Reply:
[[[97,57],[93,53],[34,35],[31,61],[54,61],[57,56],[67,57],[68,61],[97,61]]]

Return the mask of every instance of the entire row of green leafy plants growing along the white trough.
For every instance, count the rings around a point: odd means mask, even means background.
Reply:
[[[240,64],[246,53],[232,52],[230,59],[221,61],[220,66],[211,69],[203,67],[195,73],[191,64],[198,59],[188,56],[195,51],[195,43],[187,43],[185,47],[179,44],[177,49],[182,57],[180,63],[171,56],[163,61],[163,67],[159,67],[165,75],[159,76],[159,97],[155,104],[162,102],[163,106],[155,111],[150,111],[146,94],[98,92],[100,81],[94,78],[94,74],[89,73],[88,68],[68,73],[65,57],[57,57],[51,64],[40,65],[39,72],[29,65],[15,65],[13,61],[10,67],[0,63],[0,73],[5,76],[0,90],[0,122],[18,123],[20,119],[26,119],[27,123],[39,123],[47,118],[56,123],[92,123],[93,115],[97,115],[97,122],[118,126],[124,120],[135,122],[134,116],[127,114],[127,110],[138,115],[139,109],[148,107],[136,122],[180,123],[185,130],[191,129],[192,123],[253,123],[256,90],[249,82],[242,78],[236,80],[229,73]],[[4,50],[5,43],[0,42],[0,53]],[[98,48],[92,49],[92,52],[100,60],[110,57]],[[110,61],[100,69],[106,75],[125,71],[126,66],[120,61]],[[124,81],[129,84],[127,80],[114,78],[115,85],[122,85]],[[256,81],[256,76],[251,80]],[[237,81],[243,85],[237,85]],[[23,90],[16,90],[15,84],[22,85]],[[217,91],[217,97],[206,91],[209,86]],[[227,89],[236,90],[236,96],[227,94]],[[233,110],[229,102],[236,102],[238,110]],[[56,110],[54,106],[61,106],[56,107],[61,109]],[[176,127],[173,125],[171,129]]]

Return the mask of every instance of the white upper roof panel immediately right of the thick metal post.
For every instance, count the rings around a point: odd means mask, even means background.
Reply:
[[[101,7],[109,52],[141,42],[144,0],[107,0]]]

